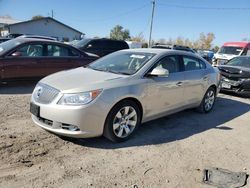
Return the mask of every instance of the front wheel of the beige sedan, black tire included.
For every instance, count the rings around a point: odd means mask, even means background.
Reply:
[[[103,135],[113,142],[128,140],[141,124],[141,111],[131,100],[117,103],[109,112]]]

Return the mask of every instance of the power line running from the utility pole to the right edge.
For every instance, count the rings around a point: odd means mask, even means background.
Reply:
[[[174,8],[182,8],[182,9],[198,9],[198,10],[250,10],[250,7],[196,7],[196,6],[183,6],[183,5],[175,5],[175,4],[167,4],[167,3],[158,3],[160,6],[168,6]]]

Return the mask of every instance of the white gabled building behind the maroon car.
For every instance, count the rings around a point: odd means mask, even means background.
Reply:
[[[84,33],[65,25],[51,17],[44,17],[8,25],[9,33],[43,35],[61,41],[81,39]]]

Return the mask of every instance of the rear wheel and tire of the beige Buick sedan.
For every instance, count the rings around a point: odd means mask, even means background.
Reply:
[[[214,107],[214,102],[216,99],[215,89],[213,87],[208,88],[205,93],[200,106],[197,108],[197,111],[200,113],[208,113]]]

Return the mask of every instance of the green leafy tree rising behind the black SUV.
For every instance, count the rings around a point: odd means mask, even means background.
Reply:
[[[122,26],[116,25],[110,31],[110,38],[116,40],[128,40],[131,37],[128,29],[123,29]]]

